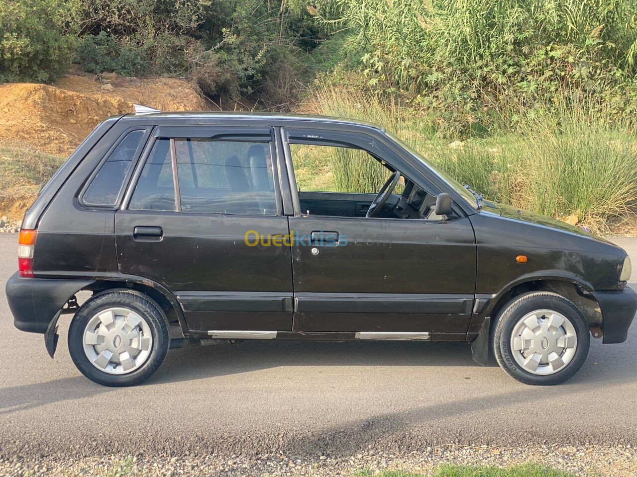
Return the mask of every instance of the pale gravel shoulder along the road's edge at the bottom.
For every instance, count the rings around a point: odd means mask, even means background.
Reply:
[[[427,473],[441,464],[510,467],[534,462],[582,477],[634,477],[637,452],[630,446],[515,447],[436,446],[408,453],[367,450],[345,457],[305,457],[283,454],[206,455],[203,457],[87,457],[83,459],[0,460],[0,475],[70,477],[118,475],[130,477],[164,476],[354,476],[361,470],[371,473],[394,470]]]

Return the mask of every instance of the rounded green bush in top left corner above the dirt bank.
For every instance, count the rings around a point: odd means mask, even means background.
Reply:
[[[75,49],[68,23],[75,0],[0,2],[0,83],[54,81],[66,73]]]

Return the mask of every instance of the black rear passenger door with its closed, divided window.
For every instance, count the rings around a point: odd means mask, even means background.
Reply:
[[[159,127],[115,216],[120,272],[168,287],[194,331],[289,330],[289,247],[269,127]]]

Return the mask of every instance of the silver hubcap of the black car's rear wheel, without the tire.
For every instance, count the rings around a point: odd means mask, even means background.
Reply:
[[[108,308],[92,317],[83,335],[84,352],[98,370],[131,373],[146,362],[153,345],[148,322],[128,308]]]

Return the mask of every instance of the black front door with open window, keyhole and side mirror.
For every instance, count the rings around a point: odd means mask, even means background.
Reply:
[[[297,237],[292,246],[293,329],[429,333],[438,340],[465,336],[476,274],[469,219],[461,213],[401,218],[392,207],[400,207],[404,186],[392,195],[385,216],[367,218],[376,188],[391,170],[403,167],[394,151],[342,132],[288,128],[282,139],[288,169],[294,169],[298,209],[289,219]],[[322,164],[320,176],[308,174],[311,163]],[[406,184],[424,200],[440,193],[424,177],[409,179],[418,179],[422,190],[409,180]]]

